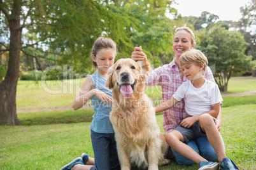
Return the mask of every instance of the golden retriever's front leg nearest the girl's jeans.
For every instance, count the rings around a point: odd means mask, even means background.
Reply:
[[[129,155],[127,154],[125,148],[122,147],[122,144],[117,143],[117,150],[118,150],[118,158],[119,158],[121,170],[130,170],[131,163],[130,163]]]

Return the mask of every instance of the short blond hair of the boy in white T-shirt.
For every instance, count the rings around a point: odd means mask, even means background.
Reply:
[[[194,63],[198,66],[203,63],[204,69],[203,71],[206,70],[206,67],[208,65],[208,60],[206,56],[199,51],[198,49],[189,49],[188,51],[185,51],[179,58],[179,65],[185,65],[185,64],[190,64]]]

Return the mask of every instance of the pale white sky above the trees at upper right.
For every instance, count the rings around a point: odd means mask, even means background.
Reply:
[[[241,18],[240,7],[251,0],[176,0],[172,7],[181,16],[201,16],[203,11],[218,15],[220,20],[238,21]]]

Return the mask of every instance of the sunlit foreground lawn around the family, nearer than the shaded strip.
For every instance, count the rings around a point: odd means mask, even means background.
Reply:
[[[226,154],[241,169],[256,169],[255,110],[256,105],[222,110],[221,133]],[[157,115],[157,122],[162,127],[162,115]],[[82,152],[94,157],[89,127],[90,122],[0,126],[0,169],[59,169]],[[159,169],[197,168],[197,165],[179,166],[171,160],[171,164]]]

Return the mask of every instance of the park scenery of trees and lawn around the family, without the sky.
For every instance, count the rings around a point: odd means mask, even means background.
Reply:
[[[208,11],[181,16],[173,4],[1,0],[0,169],[59,169],[82,152],[93,157],[89,126],[94,111],[90,103],[71,108],[84,77],[95,71],[93,42],[111,37],[117,60],[131,58],[134,46],[142,46],[157,68],[173,60],[174,30],[184,25],[194,30],[196,48],[208,57],[224,96],[220,132],[227,155],[241,169],[256,169],[256,1],[241,6],[238,21],[220,20]],[[160,87],[146,93],[154,104],[162,99]],[[162,114],[157,120],[162,126]],[[172,160],[160,169],[197,167]]]

